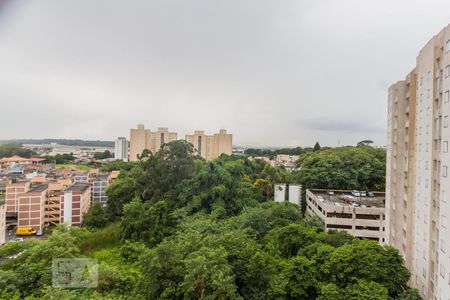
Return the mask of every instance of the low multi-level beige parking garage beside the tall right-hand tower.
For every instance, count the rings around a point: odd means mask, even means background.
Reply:
[[[306,211],[326,230],[343,230],[358,238],[385,241],[385,194],[353,197],[350,191],[306,190]]]

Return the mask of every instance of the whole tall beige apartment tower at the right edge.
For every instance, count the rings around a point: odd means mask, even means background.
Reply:
[[[450,26],[389,89],[387,242],[426,299],[450,295]]]

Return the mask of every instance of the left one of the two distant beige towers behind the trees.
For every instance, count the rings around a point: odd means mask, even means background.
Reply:
[[[169,132],[168,128],[158,128],[157,131],[145,129],[144,125],[139,124],[137,129],[130,130],[130,161],[136,161],[138,155],[147,149],[156,153],[165,143],[175,141],[176,132]]]

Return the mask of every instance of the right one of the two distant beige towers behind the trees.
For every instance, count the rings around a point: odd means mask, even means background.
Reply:
[[[195,131],[186,135],[186,141],[194,146],[196,153],[207,160],[219,157],[221,154],[231,155],[233,150],[233,135],[222,129],[214,135],[206,135],[204,131]]]

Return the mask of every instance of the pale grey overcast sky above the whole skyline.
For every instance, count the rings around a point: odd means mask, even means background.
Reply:
[[[386,144],[388,86],[450,1],[0,0],[0,139]]]

